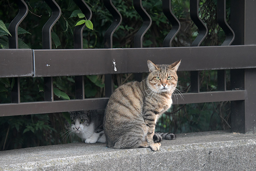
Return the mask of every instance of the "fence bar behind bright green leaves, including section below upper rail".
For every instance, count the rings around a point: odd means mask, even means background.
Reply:
[[[88,5],[83,0],[73,0],[77,6],[80,8],[82,13],[85,15],[87,20],[92,18],[92,11],[88,7]],[[74,48],[82,49],[83,48],[83,30],[85,28],[85,24],[78,25],[74,29]],[[84,99],[84,76],[75,76],[75,91],[76,91],[76,99]]]

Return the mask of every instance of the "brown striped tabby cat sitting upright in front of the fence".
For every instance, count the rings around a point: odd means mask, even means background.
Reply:
[[[172,105],[180,61],[155,65],[148,60],[149,75],[146,79],[123,84],[113,92],[103,123],[108,147],[159,150],[162,137],[154,132],[155,125]],[[169,133],[169,139],[176,139],[176,135]]]

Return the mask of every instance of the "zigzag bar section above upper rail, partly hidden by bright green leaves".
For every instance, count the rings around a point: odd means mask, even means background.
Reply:
[[[92,11],[88,7],[88,5],[83,0],[73,0],[77,6],[80,8],[82,13],[85,15],[87,20],[92,18]],[[74,29],[74,48],[75,49],[82,49],[83,48],[83,30],[85,24],[78,25]]]

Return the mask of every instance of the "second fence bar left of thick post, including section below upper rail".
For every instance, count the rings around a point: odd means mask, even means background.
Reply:
[[[195,23],[199,30],[198,36],[192,42],[191,46],[200,46],[200,44],[205,39],[208,29],[205,23],[199,17],[199,0],[190,0],[190,18]],[[191,71],[190,72],[190,82],[191,82],[191,92],[199,93],[199,71]]]

